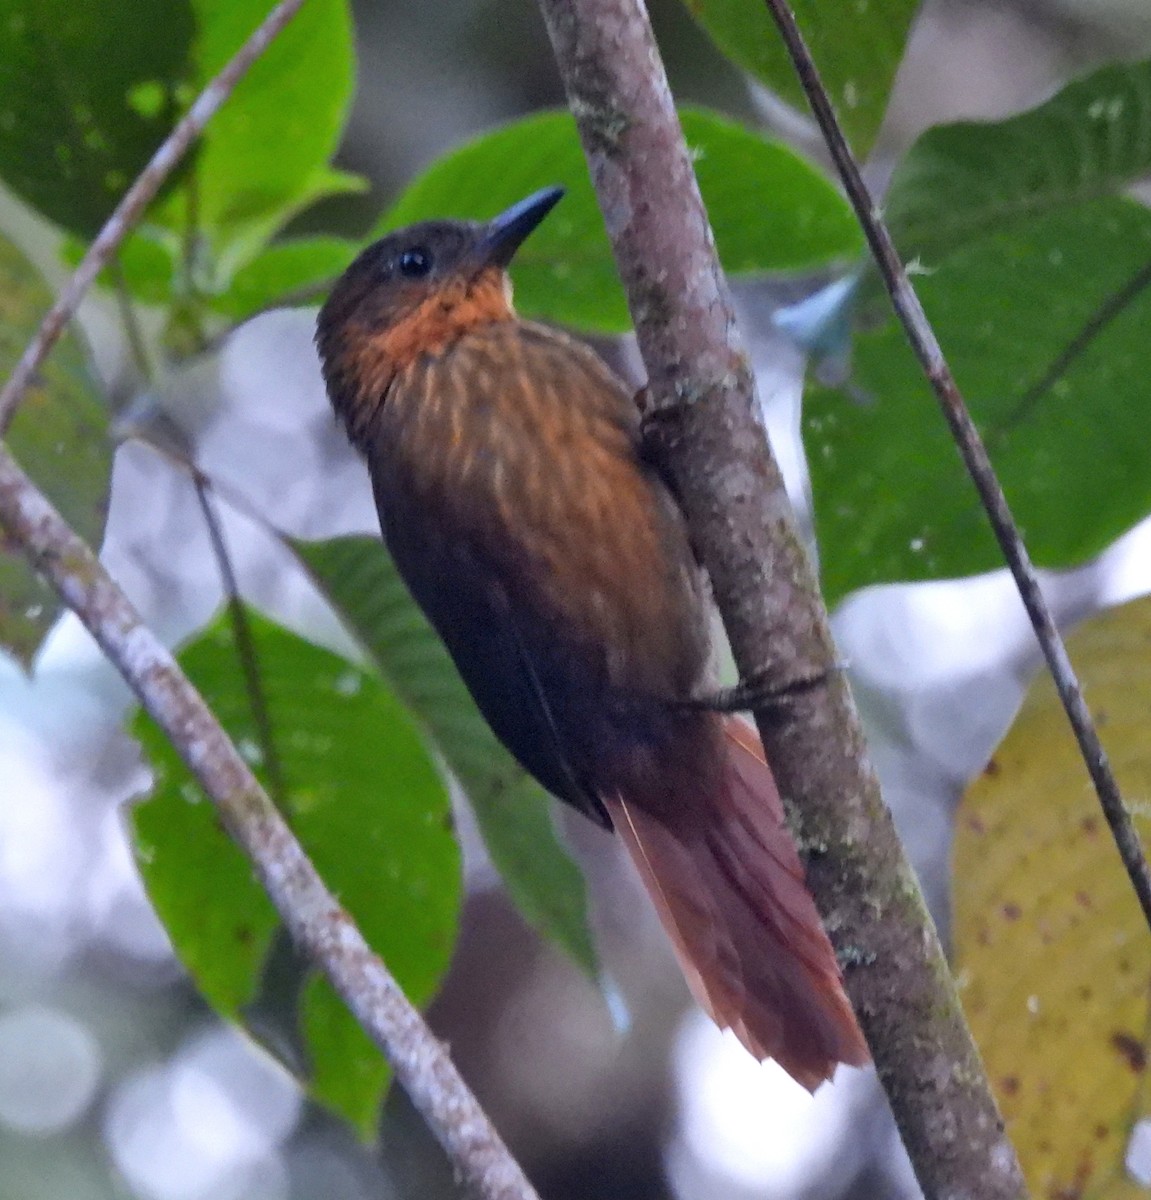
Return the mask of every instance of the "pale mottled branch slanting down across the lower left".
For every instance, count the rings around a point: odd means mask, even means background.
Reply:
[[[0,526],[77,613],[172,739],[251,858],[296,944],[386,1055],[460,1175],[486,1200],[538,1200],[444,1048],[324,887],[200,695],[4,445]]]

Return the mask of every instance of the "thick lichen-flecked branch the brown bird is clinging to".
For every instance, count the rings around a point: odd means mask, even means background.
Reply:
[[[760,713],[808,882],[929,1200],[1023,1177],[874,773],[640,0],[540,0],[696,546],[744,678],[827,672]]]

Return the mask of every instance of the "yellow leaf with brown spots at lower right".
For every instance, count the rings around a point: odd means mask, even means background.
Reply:
[[[1068,648],[1146,841],[1151,601]],[[964,1006],[1032,1195],[1145,1200],[1125,1156],[1149,1115],[1151,934],[1047,673],[963,802],[953,880]]]

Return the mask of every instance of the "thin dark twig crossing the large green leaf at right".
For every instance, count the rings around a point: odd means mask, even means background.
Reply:
[[[919,298],[911,286],[911,280],[904,270],[882,214],[871,199],[867,184],[859,173],[859,167],[844,138],[843,130],[839,127],[827,89],[820,79],[811,53],[799,32],[795,14],[784,0],[765,0],[765,2],[774,16],[787,44],[787,53],[791,55],[799,82],[811,103],[815,119],[827,139],[847,197],[856,210],[856,216],[859,218],[868,245],[871,247],[883,283],[891,294],[892,304],[895,306],[907,340],[923,366],[923,372],[939,397],[943,416],[951,426],[952,436],[963,456],[964,466],[976,485],[991,528],[995,530],[995,538],[1015,578],[1015,587],[1019,589],[1020,599],[1027,610],[1035,635],[1043,649],[1043,656],[1047,659],[1048,667],[1055,679],[1055,686],[1067,713],[1067,719],[1071,721],[1075,740],[1079,743],[1079,752],[1083,755],[1107,823],[1111,828],[1116,846],[1119,846],[1127,876],[1139,898],[1144,920],[1151,926],[1151,868],[1147,866],[1143,847],[1139,844],[1139,835],[1135,833],[1131,814],[1123,804],[1107,752],[1099,742],[1099,734],[1091,719],[1086,701],[1083,698],[1079,679],[1071,665],[1063,640],[1055,628],[1051,610],[1043,596],[1031,558],[1012,517],[1007,497],[1003,494],[991,467],[987,448],[979,437],[975,421],[971,420],[971,414],[967,412],[951,367],[943,358],[943,350],[935,337],[935,331],[931,329],[923,306],[919,304]],[[1143,274],[1135,276],[1132,286],[1141,287],[1144,284]]]

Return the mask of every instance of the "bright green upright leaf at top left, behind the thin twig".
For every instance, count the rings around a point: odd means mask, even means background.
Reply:
[[[193,0],[197,80],[206,83],[268,14],[268,0]],[[223,289],[296,212],[361,181],[329,166],[354,86],[347,0],[308,0],[260,55],[204,133],[196,215]],[[182,227],[185,208],[168,221]]]

